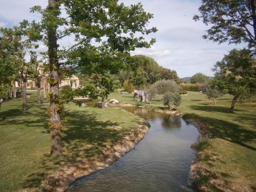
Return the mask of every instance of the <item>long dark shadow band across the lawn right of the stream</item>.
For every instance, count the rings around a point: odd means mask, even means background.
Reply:
[[[210,133],[214,138],[221,138],[241,146],[247,147],[250,150],[256,151],[254,146],[249,145],[250,142],[255,142],[256,132],[247,130],[245,127],[240,127],[238,124],[230,123],[228,121],[211,118],[211,117],[202,117],[197,114],[185,114],[183,116],[185,119],[195,118],[200,119],[204,122],[210,124],[212,129],[210,129]],[[249,117],[248,117],[249,118]],[[250,118],[251,121],[253,117]]]

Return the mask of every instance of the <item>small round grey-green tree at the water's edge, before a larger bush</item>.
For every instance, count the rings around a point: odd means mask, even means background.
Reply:
[[[170,111],[177,108],[177,106],[180,105],[180,102],[181,96],[177,92],[166,92],[163,94],[163,105],[167,105]],[[174,105],[174,107],[171,108],[171,105]]]

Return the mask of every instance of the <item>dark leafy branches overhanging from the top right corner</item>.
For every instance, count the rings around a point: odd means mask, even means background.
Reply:
[[[203,23],[211,25],[204,38],[216,42],[239,44],[246,42],[256,48],[256,3],[255,0],[202,0],[199,8]]]

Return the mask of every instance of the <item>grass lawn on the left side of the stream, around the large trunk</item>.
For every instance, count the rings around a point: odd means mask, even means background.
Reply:
[[[52,159],[46,110],[48,102],[36,104],[36,92],[28,92],[28,110],[22,99],[2,103],[0,111],[0,191],[40,187],[49,171],[62,164],[101,154],[139,124],[137,116],[115,108],[66,105],[63,117],[70,122],[62,130],[63,157]]]

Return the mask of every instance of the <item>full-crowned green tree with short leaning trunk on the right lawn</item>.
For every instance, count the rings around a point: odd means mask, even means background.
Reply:
[[[216,63],[214,72],[213,86],[233,96],[231,112],[238,98],[250,96],[252,91],[255,93],[256,60],[250,50],[231,50]]]

